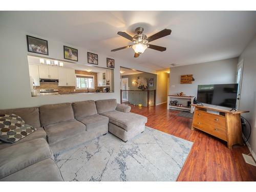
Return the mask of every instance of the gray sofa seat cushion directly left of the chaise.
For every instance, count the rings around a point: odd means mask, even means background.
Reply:
[[[90,117],[80,118],[77,120],[86,125],[86,131],[93,130],[103,124],[109,124],[109,118],[99,114],[92,115]]]

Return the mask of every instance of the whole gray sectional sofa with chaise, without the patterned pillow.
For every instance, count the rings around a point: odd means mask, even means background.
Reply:
[[[53,154],[110,132],[124,142],[145,129],[147,118],[116,99],[0,110],[36,131],[14,144],[0,143],[0,181],[63,181]]]

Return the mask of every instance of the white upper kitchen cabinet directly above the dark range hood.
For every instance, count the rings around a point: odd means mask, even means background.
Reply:
[[[41,79],[58,79],[58,67],[38,66],[38,70]]]

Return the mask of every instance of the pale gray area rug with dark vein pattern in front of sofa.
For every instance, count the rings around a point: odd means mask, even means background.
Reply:
[[[65,181],[176,181],[192,145],[146,127],[127,143],[108,133],[54,157]]]

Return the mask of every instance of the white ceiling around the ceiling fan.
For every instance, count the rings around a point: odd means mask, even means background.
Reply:
[[[238,57],[256,33],[255,11],[43,11],[0,12],[0,23],[31,34],[122,58],[155,70]],[[172,34],[152,41],[165,52],[147,49],[134,58],[132,45],[117,35],[135,35],[144,27],[150,36],[162,29]]]

